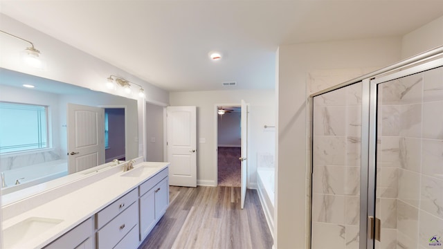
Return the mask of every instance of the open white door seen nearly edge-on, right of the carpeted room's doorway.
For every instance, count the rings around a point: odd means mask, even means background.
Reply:
[[[240,121],[242,130],[242,209],[244,208],[244,200],[246,199],[246,183],[248,176],[248,104],[242,100],[242,118]]]

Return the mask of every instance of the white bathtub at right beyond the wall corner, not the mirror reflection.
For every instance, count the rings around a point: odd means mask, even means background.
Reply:
[[[273,167],[262,167],[257,169],[258,196],[262,203],[264,216],[273,236],[274,231],[274,189],[275,169]]]

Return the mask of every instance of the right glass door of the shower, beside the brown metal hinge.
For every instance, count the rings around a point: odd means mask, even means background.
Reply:
[[[443,248],[443,67],[371,81],[377,89],[374,248]]]

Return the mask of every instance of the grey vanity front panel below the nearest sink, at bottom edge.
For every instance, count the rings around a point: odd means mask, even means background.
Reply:
[[[92,219],[89,218],[50,243],[45,249],[78,248],[80,245],[84,248],[93,248],[92,240],[89,239],[92,234]]]

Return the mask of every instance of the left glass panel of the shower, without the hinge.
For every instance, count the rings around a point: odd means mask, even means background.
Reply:
[[[361,82],[313,100],[311,248],[359,248]]]

